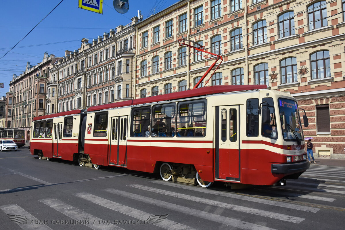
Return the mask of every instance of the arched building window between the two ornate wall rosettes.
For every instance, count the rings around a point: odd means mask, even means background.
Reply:
[[[280,75],[282,76],[282,84],[297,81],[296,58],[285,58],[280,61]]]

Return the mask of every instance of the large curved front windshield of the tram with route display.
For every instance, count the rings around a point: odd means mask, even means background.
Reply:
[[[297,141],[300,143],[304,138],[300,125],[297,102],[280,98],[278,100],[278,105],[284,140]]]

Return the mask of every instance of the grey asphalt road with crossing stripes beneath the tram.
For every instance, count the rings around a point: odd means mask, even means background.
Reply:
[[[230,190],[0,152],[0,229],[343,229],[345,167],[312,164],[284,187]]]

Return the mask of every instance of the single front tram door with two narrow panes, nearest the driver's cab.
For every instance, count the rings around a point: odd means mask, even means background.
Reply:
[[[217,106],[216,118],[216,178],[240,181],[239,106]]]

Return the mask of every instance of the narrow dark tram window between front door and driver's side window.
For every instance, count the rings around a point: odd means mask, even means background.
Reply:
[[[259,136],[259,99],[252,98],[247,100],[246,118],[247,137]]]

